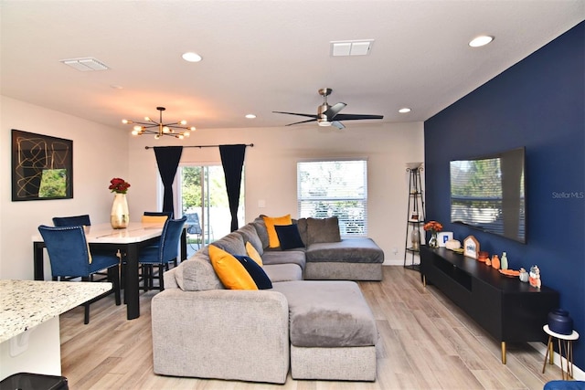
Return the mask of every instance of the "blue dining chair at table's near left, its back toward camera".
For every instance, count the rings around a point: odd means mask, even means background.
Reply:
[[[83,303],[85,316],[83,323],[90,323],[90,303],[114,293],[116,305],[120,300],[120,259],[114,251],[91,250],[85,237],[83,227],[46,227],[41,225],[38,231],[47,247],[51,265],[51,274],[56,280],[80,278],[89,281],[90,276],[102,269],[108,270],[112,281],[112,290],[108,290],[96,298]]]

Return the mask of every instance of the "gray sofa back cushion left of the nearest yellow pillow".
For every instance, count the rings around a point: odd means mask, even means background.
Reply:
[[[175,268],[175,279],[184,291],[224,290],[207,255],[201,250]],[[166,283],[165,283],[166,284]]]

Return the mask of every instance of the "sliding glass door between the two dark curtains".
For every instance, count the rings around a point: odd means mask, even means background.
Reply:
[[[177,171],[178,197],[183,216],[187,216],[188,254],[215,239],[229,234],[226,180],[221,165],[186,164]],[[239,196],[238,221],[244,222],[243,174]]]

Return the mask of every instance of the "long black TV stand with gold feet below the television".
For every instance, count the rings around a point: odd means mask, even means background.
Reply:
[[[502,345],[546,343],[542,326],[548,312],[558,308],[558,292],[534,288],[518,278],[446,248],[420,247],[422,282],[436,286]]]

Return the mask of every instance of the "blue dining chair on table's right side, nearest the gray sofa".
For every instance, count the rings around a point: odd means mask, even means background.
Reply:
[[[143,268],[143,290],[165,290],[163,272],[168,270],[170,261],[179,257],[179,241],[185,221],[186,216],[167,219],[158,244],[140,249],[138,262]],[[158,287],[154,287],[154,266],[158,267]]]

